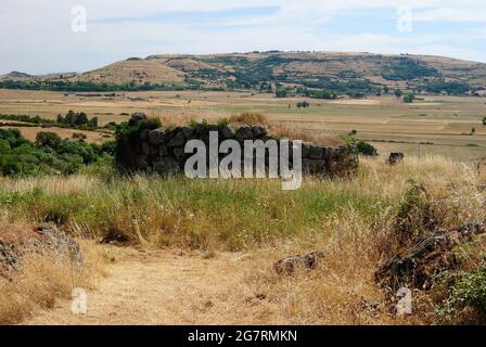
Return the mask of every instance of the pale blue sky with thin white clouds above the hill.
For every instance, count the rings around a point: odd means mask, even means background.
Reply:
[[[343,51],[486,63],[486,1],[1,0],[0,74],[164,53]]]

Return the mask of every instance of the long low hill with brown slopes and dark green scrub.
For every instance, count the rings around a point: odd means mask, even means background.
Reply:
[[[448,92],[450,89],[452,93],[464,93],[486,87],[486,64],[429,55],[272,51],[131,57],[84,74],[56,77],[33,78],[11,73],[0,77],[0,81],[35,79],[38,82],[260,90],[268,90],[270,83],[279,83],[336,93],[348,90],[375,93],[386,86],[431,92]]]

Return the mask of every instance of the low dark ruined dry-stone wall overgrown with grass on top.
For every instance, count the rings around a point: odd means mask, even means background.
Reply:
[[[140,131],[122,150],[118,149],[117,163],[126,171],[149,171],[161,175],[183,172],[186,160],[193,155],[193,153],[184,153],[187,142],[201,140],[208,145],[210,131],[218,132],[218,144],[223,140],[236,140],[241,144],[245,140],[280,141],[270,136],[263,126],[243,125],[233,129],[227,125],[196,124],[174,129],[148,129],[140,126],[144,121],[148,121],[144,114],[132,115],[129,124],[139,126]],[[291,146],[290,162],[292,163],[292,141],[289,144]],[[227,155],[219,154],[219,159]],[[253,155],[255,160],[255,151]],[[354,174],[358,166],[357,155],[346,144],[318,145],[303,143],[302,156],[305,175],[342,177]],[[206,163],[208,163],[208,158]],[[266,165],[268,166],[268,155]]]

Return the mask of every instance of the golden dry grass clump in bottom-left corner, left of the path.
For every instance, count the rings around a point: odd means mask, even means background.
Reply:
[[[53,252],[28,253],[22,269],[11,280],[0,280],[0,324],[20,323],[60,298],[69,298],[73,288],[94,288],[104,275],[104,259],[91,242],[81,242],[85,264],[75,265]]]

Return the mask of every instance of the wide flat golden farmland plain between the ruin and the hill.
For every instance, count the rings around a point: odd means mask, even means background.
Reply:
[[[310,103],[309,108],[296,107],[303,100]],[[54,119],[69,110],[97,116],[101,125],[122,123],[133,112],[170,118],[176,123],[214,120],[253,112],[264,114],[273,124],[309,133],[341,136],[356,130],[358,138],[372,142],[383,155],[400,151],[406,155],[431,154],[472,160],[486,154],[486,126],[482,124],[486,115],[486,98],[421,97],[414,103],[406,104],[392,95],[324,101],[222,91],[120,92],[113,95],[0,90],[0,114]],[[27,138],[33,137],[35,129],[21,128]],[[62,131],[62,137],[71,136],[69,131]],[[104,139],[101,133],[88,132],[89,141]]]

